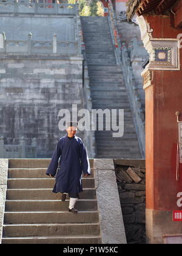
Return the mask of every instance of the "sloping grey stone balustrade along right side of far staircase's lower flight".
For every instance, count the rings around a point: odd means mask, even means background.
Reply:
[[[145,116],[141,99],[138,94],[138,88],[135,84],[135,78],[133,75],[133,69],[130,63],[130,58],[127,52],[127,48],[123,43],[122,47],[122,68],[126,89],[129,96],[130,107],[132,109],[133,120],[135,123],[136,133],[138,135],[138,142],[140,144],[141,155],[145,157]]]

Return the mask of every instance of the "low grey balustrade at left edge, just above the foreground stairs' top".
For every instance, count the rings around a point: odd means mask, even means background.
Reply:
[[[19,145],[4,144],[4,137],[0,137],[0,158],[36,158],[36,138],[32,145],[25,145],[25,138],[21,137]]]

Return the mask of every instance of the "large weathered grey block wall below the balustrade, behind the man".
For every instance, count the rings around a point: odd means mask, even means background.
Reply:
[[[52,157],[61,108],[83,108],[83,57],[1,54],[0,130],[5,144],[35,137],[38,158]],[[76,133],[84,138],[83,132]]]

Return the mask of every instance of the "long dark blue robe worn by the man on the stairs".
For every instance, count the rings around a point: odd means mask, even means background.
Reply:
[[[90,174],[89,158],[83,140],[76,136],[69,138],[67,135],[59,138],[46,172],[47,175],[56,176],[53,193],[78,194],[83,191],[82,172]]]

